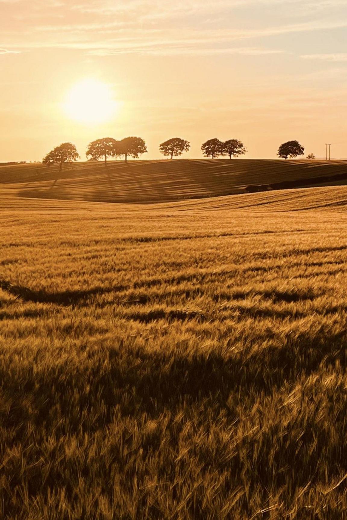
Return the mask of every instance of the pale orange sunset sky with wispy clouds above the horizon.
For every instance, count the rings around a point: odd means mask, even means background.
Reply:
[[[83,119],[88,84],[107,95],[88,91]],[[146,159],[171,137],[187,158],[214,137],[347,158],[346,86],[346,0],[0,0],[0,161],[129,135]]]

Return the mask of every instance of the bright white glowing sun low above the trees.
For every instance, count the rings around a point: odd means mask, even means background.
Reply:
[[[69,118],[81,123],[104,123],[117,114],[119,102],[113,98],[112,89],[101,81],[85,79],[76,83],[65,102]]]

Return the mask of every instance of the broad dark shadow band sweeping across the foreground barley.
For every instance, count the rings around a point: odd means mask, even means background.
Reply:
[[[253,353],[252,348],[249,345],[236,353],[230,348],[224,355],[212,348],[202,353],[182,349],[179,353],[175,349],[147,353],[122,343],[119,348],[105,350],[107,367],[105,356],[99,354],[98,361],[88,369],[74,366],[70,370],[69,360],[52,366],[49,384],[44,370],[21,368],[18,373],[9,373],[1,367],[0,375],[4,391],[12,397],[21,395],[23,381],[30,393],[40,389],[45,402],[54,400],[53,388],[58,394],[80,395],[82,409],[99,395],[106,405],[95,424],[95,428],[101,428],[112,422],[117,407],[122,415],[136,415],[140,409],[150,417],[158,417],[183,400],[198,403],[211,396],[216,408],[224,407],[232,393],[241,397],[272,395],[275,388],[295,384],[303,374],[307,377],[316,372],[323,362],[325,366],[338,362],[342,367],[347,363],[345,333],[329,335],[323,327],[315,335],[304,332],[295,340],[288,336],[281,346],[254,349]],[[28,373],[24,375],[25,370]],[[76,393],[76,388],[81,386],[83,390],[85,385],[90,387],[88,395]],[[81,424],[75,426],[80,430]]]

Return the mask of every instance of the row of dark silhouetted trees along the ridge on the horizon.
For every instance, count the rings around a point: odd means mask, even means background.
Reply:
[[[190,148],[190,142],[180,137],[173,137],[168,139],[159,145],[159,151],[164,157],[178,157],[184,152],[187,152]],[[217,157],[228,156],[229,159],[233,157],[239,157],[247,153],[245,145],[239,139],[228,139],[227,141],[221,141],[220,139],[214,138],[205,141],[201,146],[201,151],[204,157],[211,157],[215,159]],[[147,147],[144,139],[141,137],[125,137],[124,139],[117,140],[113,137],[104,137],[102,139],[96,139],[89,143],[86,156],[91,160],[98,161],[103,159],[105,166],[107,166],[107,158],[119,158],[123,157],[124,162],[127,162],[128,157],[138,159],[139,155],[146,153]],[[277,155],[282,159],[288,159],[298,157],[304,154],[304,148],[298,141],[287,141],[278,148]],[[80,158],[80,155],[71,142],[64,142],[60,146],[57,146],[43,159],[43,164],[59,164],[59,170],[65,162],[76,161]],[[315,159],[313,153],[307,156],[307,159]]]

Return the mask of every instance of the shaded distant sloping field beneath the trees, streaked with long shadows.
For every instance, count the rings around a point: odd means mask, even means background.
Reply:
[[[0,166],[0,190],[20,197],[150,202],[245,192],[258,186],[346,175],[345,161],[174,160],[125,165],[86,162],[58,168]],[[315,180],[316,182],[316,180]]]

